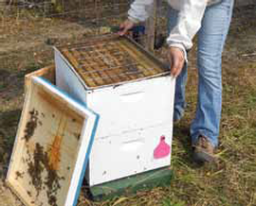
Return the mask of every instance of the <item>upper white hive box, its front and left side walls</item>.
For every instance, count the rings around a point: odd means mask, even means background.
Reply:
[[[86,90],[72,67],[56,54],[57,85],[101,115],[96,139],[173,121],[174,79],[154,77]]]

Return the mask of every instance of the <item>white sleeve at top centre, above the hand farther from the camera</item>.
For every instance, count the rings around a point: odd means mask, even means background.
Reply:
[[[128,18],[134,23],[144,22],[153,6],[154,0],[135,0],[128,11]]]

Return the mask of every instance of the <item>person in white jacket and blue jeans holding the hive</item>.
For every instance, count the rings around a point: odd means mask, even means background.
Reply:
[[[149,17],[153,1],[135,0],[128,11],[128,19],[120,25],[120,36]],[[200,163],[212,162],[218,146],[222,108],[222,51],[233,0],[168,0],[168,3],[168,55],[171,75],[176,77],[174,121],[183,116],[186,107],[187,53],[197,33],[199,79],[197,108],[191,125],[193,159]]]

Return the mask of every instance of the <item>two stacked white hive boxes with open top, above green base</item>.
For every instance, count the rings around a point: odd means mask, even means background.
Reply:
[[[55,62],[57,86],[101,116],[86,175],[91,186],[170,165],[171,151],[154,155],[172,144],[168,66],[116,35],[55,48]]]

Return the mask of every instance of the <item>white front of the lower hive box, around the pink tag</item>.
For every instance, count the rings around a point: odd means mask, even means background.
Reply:
[[[154,150],[162,135],[166,143],[172,146],[172,133],[171,125],[165,124],[95,141],[87,181],[90,185],[96,185],[170,165],[171,153],[156,160]]]

